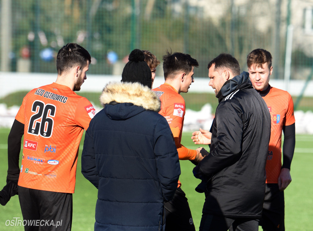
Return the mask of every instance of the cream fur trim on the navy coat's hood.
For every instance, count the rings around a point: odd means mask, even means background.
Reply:
[[[161,110],[160,98],[140,83],[110,82],[104,87],[100,102],[104,107],[110,102],[116,102],[131,103],[156,112]]]

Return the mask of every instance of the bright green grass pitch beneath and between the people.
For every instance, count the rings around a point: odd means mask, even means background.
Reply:
[[[0,188],[5,185],[7,175],[7,139],[9,129],[0,129]],[[191,132],[184,132],[182,144],[187,148],[196,149],[190,139]],[[83,137],[84,138],[84,137]],[[285,226],[286,231],[311,231],[313,218],[313,184],[311,164],[313,163],[313,136],[296,135],[295,155],[291,164],[292,182],[285,190]],[[208,150],[207,146],[203,146]],[[83,148],[83,139],[80,143],[80,154]],[[194,189],[199,180],[192,175],[194,165],[189,161],[181,161],[182,189],[188,198],[192,217],[199,228],[204,194],[197,193]],[[80,156],[77,164],[76,187],[73,194],[73,225],[74,231],[94,230],[95,203],[97,200],[96,188],[87,181],[80,172]],[[0,207],[0,229],[24,230],[22,226],[6,226],[7,220],[22,219],[18,196],[14,196],[6,206]],[[8,223],[7,223],[8,224]],[[259,230],[262,230],[261,228]]]

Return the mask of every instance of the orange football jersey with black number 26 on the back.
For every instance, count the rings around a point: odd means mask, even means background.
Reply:
[[[80,140],[95,113],[67,86],[52,83],[31,90],[15,117],[25,125],[18,185],[74,193]]]

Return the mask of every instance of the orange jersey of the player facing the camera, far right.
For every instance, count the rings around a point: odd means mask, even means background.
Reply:
[[[281,170],[281,135],[283,126],[295,123],[291,95],[274,87],[262,97],[271,115],[271,137],[266,160],[266,183],[278,183]]]

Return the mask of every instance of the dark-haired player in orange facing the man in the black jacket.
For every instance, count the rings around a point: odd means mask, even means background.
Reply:
[[[163,70],[165,83],[153,89],[161,99],[161,111],[163,116],[170,116],[173,120],[170,124],[180,160],[192,160],[199,162],[203,157],[200,151],[192,150],[181,144],[182,127],[186,112],[185,100],[181,92],[188,92],[191,83],[194,82],[194,67],[198,67],[197,60],[188,54],[179,52],[169,53],[163,56]],[[190,208],[185,193],[178,181],[178,188],[172,201],[164,204],[166,209],[166,230],[195,230]]]

